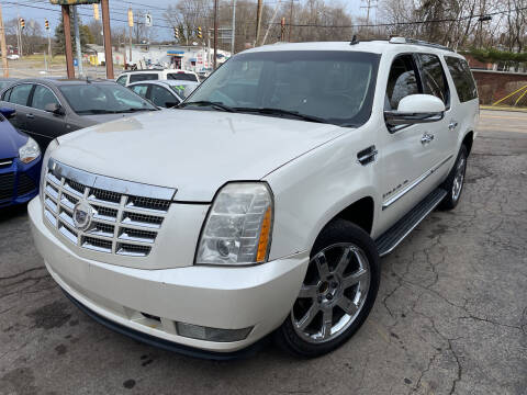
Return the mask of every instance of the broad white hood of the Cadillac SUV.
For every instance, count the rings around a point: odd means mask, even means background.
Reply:
[[[53,157],[86,171],[176,188],[177,201],[211,202],[225,182],[259,180],[346,131],[262,115],[167,110],[63,136]]]

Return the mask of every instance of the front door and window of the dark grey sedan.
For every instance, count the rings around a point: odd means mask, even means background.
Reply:
[[[46,105],[54,103],[65,108],[48,87],[35,84],[30,98],[31,109],[26,114],[27,132],[41,148],[47,147],[53,139],[67,133],[65,116],[46,111]]]

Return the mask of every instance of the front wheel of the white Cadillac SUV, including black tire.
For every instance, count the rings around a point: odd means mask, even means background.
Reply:
[[[333,221],[315,240],[299,297],[274,331],[276,342],[303,358],[335,350],[365,323],[379,281],[379,252],[370,236],[350,222]]]

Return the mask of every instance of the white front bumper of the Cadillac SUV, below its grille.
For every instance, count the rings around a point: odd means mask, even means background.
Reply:
[[[255,343],[285,319],[307,269],[307,252],[244,268],[143,270],[109,264],[78,257],[55,237],[43,223],[38,198],[27,208],[36,247],[67,294],[104,320],[164,342],[213,352]],[[179,336],[177,323],[253,330],[240,341],[214,342]]]

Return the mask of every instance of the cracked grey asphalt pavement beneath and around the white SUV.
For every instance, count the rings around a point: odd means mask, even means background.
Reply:
[[[467,184],[382,259],[337,351],[229,362],[115,334],[47,274],[25,207],[0,211],[0,394],[527,394],[527,114],[482,111]],[[175,302],[176,303],[176,302]]]

